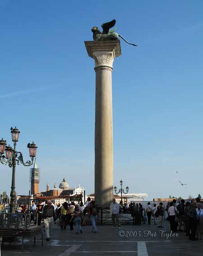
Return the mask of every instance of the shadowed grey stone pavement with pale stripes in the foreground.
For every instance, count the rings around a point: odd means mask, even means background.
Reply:
[[[23,252],[21,243],[11,246],[5,243],[3,248],[1,246],[1,256],[203,256],[203,240],[190,241],[184,232],[177,232],[178,237],[161,237],[159,230],[170,234],[169,222],[166,221],[164,228],[147,224],[123,225],[121,231],[110,225],[97,227],[96,234],[91,232],[91,226],[83,227],[83,234],[75,234],[75,231],[61,231],[54,226],[51,241],[44,241],[43,247],[40,237],[37,237],[32,252],[28,251],[29,242],[26,241]]]

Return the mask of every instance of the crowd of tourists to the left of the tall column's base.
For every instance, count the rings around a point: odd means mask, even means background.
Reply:
[[[28,213],[27,205],[20,204],[18,207],[18,213]],[[64,202],[62,205],[55,204],[51,201],[39,201],[36,205],[35,201],[32,201],[32,206],[29,212],[31,213],[30,222],[35,225],[42,225],[46,232],[46,241],[50,241],[50,234],[54,223],[60,226],[61,230],[65,230],[67,225],[69,225],[70,230],[74,230],[76,234],[83,233],[82,226],[85,225],[84,215],[88,214],[92,222],[92,232],[97,233],[97,218],[99,210],[95,201],[91,201],[88,198],[85,205],[83,202],[80,204],[75,204],[74,202],[67,203]]]

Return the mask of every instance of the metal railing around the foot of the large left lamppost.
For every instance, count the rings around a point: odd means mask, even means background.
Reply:
[[[0,213],[0,228],[27,229],[30,217],[30,213]]]

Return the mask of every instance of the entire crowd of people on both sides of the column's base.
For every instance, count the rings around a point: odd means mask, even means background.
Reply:
[[[50,240],[50,232],[53,224],[60,226],[61,230],[65,230],[67,225],[69,230],[74,230],[76,234],[83,233],[82,227],[85,226],[84,216],[88,215],[92,223],[92,232],[97,233],[97,219],[99,217],[99,209],[95,201],[91,198],[83,205],[83,202],[75,204],[74,202],[64,202],[62,205],[55,206],[54,202],[33,200],[31,207],[28,209],[27,204],[19,204],[17,213],[31,213],[30,222],[34,225],[42,225],[45,228],[46,240]],[[158,228],[163,227],[164,217],[170,222],[172,232],[185,232],[190,240],[203,239],[203,204],[199,198],[186,202],[182,199],[177,202],[173,199],[172,202],[167,203],[164,208],[163,203],[158,205],[154,202],[153,206],[148,202],[147,207],[143,208],[141,203],[127,203],[121,201],[116,203],[113,199],[110,205],[110,214],[113,228],[118,226],[121,228],[119,214],[130,213],[134,217],[134,224],[141,225],[141,223],[153,224]],[[22,222],[24,216],[22,216]],[[75,224],[75,227],[74,227]]]

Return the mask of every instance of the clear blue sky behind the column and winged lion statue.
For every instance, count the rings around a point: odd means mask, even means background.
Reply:
[[[34,140],[41,191],[64,177],[94,191],[95,72],[83,41],[116,19],[138,47],[122,41],[112,73],[114,184],[149,199],[203,196],[202,10],[202,0],[0,0],[0,137],[17,126],[25,159]],[[0,164],[0,191],[10,185]],[[28,194],[28,167],[17,166],[16,191]]]

